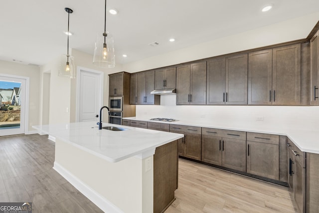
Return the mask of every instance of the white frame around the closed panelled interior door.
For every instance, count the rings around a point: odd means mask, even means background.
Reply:
[[[89,69],[89,68],[85,68],[85,67],[81,67],[81,66],[77,66],[77,80],[76,80],[76,107],[75,107],[75,112],[76,112],[76,116],[75,116],[75,121],[79,122],[79,113],[80,113],[80,87],[81,87],[81,72],[91,72],[94,74],[98,74],[100,81],[99,81],[99,85],[98,86],[101,90],[101,96],[99,98],[100,100],[100,106],[102,106],[104,104],[104,72],[102,71],[98,71],[98,70],[94,70],[94,69]]]

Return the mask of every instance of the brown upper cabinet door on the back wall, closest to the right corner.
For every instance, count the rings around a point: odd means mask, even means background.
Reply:
[[[273,105],[301,104],[301,45],[273,49]]]

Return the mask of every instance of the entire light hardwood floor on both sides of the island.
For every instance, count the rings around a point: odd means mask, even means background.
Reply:
[[[33,213],[102,212],[52,169],[47,135],[0,137],[0,202]],[[295,213],[288,188],[179,160],[176,200],[165,213]]]

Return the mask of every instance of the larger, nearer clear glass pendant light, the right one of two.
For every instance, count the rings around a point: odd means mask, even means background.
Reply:
[[[106,31],[106,0],[104,8],[104,32],[97,35],[95,41],[93,64],[102,68],[115,67],[114,40]]]

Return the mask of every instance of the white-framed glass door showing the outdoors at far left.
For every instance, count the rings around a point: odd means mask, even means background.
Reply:
[[[0,75],[0,136],[25,133],[26,79]]]

